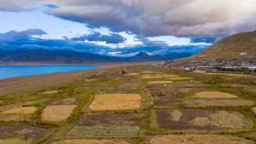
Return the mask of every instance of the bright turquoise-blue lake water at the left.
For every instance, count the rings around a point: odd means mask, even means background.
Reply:
[[[93,70],[101,67],[95,65],[36,65],[36,66],[0,66],[0,79],[20,76],[34,76],[58,72]]]

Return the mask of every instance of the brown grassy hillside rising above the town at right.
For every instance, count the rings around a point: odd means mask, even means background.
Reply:
[[[256,31],[238,33],[228,36],[211,47],[200,52],[196,59],[216,58],[255,58],[256,57]]]

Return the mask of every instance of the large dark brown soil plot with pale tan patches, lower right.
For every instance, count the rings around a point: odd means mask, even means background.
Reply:
[[[156,111],[159,127],[171,130],[228,130],[249,129],[252,120],[236,111],[200,109],[159,109]]]

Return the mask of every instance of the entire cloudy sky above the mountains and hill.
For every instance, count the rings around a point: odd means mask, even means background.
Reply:
[[[197,52],[255,18],[256,0],[0,0],[0,49]]]

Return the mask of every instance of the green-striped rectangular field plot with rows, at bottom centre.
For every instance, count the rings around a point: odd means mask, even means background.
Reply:
[[[139,127],[132,126],[76,126],[67,138],[136,138],[139,132]]]

